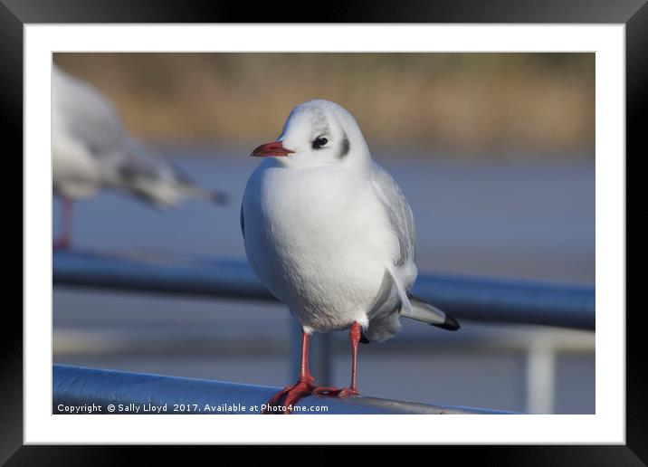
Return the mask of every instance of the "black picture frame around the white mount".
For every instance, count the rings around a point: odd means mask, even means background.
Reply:
[[[304,3],[196,0],[0,0],[0,74],[6,130],[5,161],[17,161],[23,149],[23,28],[55,23],[521,23],[625,24],[626,154],[639,152],[644,132],[648,83],[648,5],[645,0],[329,0],[308,8]],[[11,153],[7,148],[13,148]],[[642,152],[645,152],[644,150]],[[638,156],[638,154],[637,154]],[[626,156],[626,161],[628,157]],[[20,168],[22,173],[22,165]],[[11,198],[10,198],[11,199]],[[21,234],[22,234],[21,229]],[[6,241],[8,242],[8,240]],[[8,288],[7,288],[8,289]],[[626,444],[582,446],[435,447],[434,456],[452,450],[453,462],[478,456],[497,465],[645,465],[648,464],[648,385],[643,378],[645,338],[639,320],[644,311],[626,313]],[[43,310],[45,316],[45,310]],[[13,322],[11,320],[13,319]],[[5,307],[0,339],[0,462],[5,465],[115,465],[128,461],[132,448],[113,446],[24,446],[23,320]],[[240,448],[239,448],[240,449]],[[429,452],[428,452],[429,453]],[[166,450],[148,449],[150,462]],[[313,453],[313,458],[317,455]],[[367,462],[367,453],[362,454]]]

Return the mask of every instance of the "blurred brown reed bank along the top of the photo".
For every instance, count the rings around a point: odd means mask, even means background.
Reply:
[[[593,53],[66,53],[142,138],[238,145],[301,101],[350,110],[377,148],[593,154]],[[521,152],[520,152],[521,151]]]

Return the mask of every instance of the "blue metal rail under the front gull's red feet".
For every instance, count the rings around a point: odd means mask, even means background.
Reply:
[[[53,366],[52,386],[52,414],[253,415],[259,414],[262,405],[279,390],[278,387],[65,365]],[[293,413],[300,415],[511,414],[375,397],[310,396],[297,406]]]

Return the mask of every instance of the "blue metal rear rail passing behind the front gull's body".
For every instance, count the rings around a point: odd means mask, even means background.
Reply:
[[[275,300],[242,260],[56,252],[59,286]],[[594,287],[420,273],[414,291],[457,319],[595,329]]]

